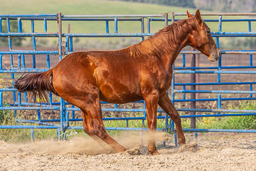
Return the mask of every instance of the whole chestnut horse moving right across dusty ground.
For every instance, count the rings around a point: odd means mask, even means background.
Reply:
[[[174,121],[179,145],[185,144],[180,116],[166,93],[171,85],[172,65],[180,50],[188,45],[208,56],[210,61],[219,58],[219,49],[199,10],[195,16],[187,11],[187,16],[121,50],[71,53],[49,71],[15,80],[14,87],[39,98],[45,98],[47,91],[51,91],[79,107],[84,132],[99,143],[105,141],[116,152],[126,149],[107,134],[100,100],[115,104],[145,100],[149,154],[158,154],[154,135],[157,105]]]

